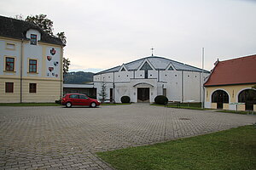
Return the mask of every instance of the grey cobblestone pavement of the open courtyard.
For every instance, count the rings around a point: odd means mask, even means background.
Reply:
[[[150,105],[0,107],[0,169],[113,169],[96,151],[253,124],[256,116]]]

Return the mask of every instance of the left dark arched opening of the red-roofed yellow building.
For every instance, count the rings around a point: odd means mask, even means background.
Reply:
[[[217,90],[212,94],[212,103],[217,103],[217,109],[223,109],[224,103],[229,103],[229,94],[224,90]]]

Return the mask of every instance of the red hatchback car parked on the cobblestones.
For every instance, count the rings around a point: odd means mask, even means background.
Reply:
[[[72,107],[73,105],[90,105],[90,107],[96,107],[101,105],[96,99],[90,99],[84,94],[65,94],[61,99],[61,105],[66,107]]]

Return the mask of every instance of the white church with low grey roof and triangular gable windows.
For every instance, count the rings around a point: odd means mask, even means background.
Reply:
[[[195,66],[149,56],[98,72],[93,77],[97,99],[106,85],[107,99],[120,103],[122,96],[131,102],[154,102],[157,95],[165,95],[169,101],[201,102],[203,81],[210,74]]]

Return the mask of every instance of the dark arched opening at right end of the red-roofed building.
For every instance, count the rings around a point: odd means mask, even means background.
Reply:
[[[238,102],[245,103],[246,111],[253,111],[253,105],[256,105],[256,90],[242,90],[238,95]]]

